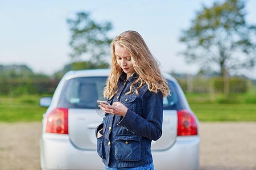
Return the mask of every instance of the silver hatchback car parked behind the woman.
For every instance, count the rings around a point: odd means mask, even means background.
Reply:
[[[60,80],[53,97],[42,97],[43,114],[40,138],[42,169],[104,169],[96,152],[94,130],[104,113],[97,100],[109,70],[69,71]],[[163,101],[163,134],[152,142],[156,170],[199,169],[199,121],[191,111],[177,81],[164,74],[171,96]]]

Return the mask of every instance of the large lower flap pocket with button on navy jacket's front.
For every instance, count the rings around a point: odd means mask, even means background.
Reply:
[[[138,161],[141,159],[141,136],[117,135],[115,137],[115,159]]]

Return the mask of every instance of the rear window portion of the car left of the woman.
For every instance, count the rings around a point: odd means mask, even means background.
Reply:
[[[106,76],[69,79],[61,92],[58,107],[96,108],[97,100],[104,100]]]

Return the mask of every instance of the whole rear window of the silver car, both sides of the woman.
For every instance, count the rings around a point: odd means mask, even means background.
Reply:
[[[69,79],[61,92],[58,107],[61,108],[97,108],[97,100],[105,100],[103,96],[106,87],[106,76],[80,77]],[[164,109],[184,109],[177,86],[168,81],[170,96],[164,97]]]

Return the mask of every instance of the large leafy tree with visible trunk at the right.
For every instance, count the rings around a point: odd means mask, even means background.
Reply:
[[[224,93],[229,96],[229,72],[255,65],[255,25],[246,23],[245,3],[241,0],[215,2],[197,12],[180,41],[187,62],[200,63],[202,69],[218,68],[224,77]]]

